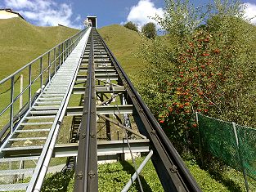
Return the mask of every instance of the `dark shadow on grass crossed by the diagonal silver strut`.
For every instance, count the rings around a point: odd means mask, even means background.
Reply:
[[[124,171],[126,171],[129,174],[133,175],[133,173],[135,172],[135,169],[134,169],[134,167],[132,167],[132,165],[130,163],[128,163],[127,161],[120,161],[120,163],[124,167],[124,169],[123,169]],[[143,176],[141,176],[141,174],[140,174],[140,180],[141,180],[141,185],[142,185],[143,190],[147,191],[147,192],[152,192],[152,190],[150,188],[150,185],[147,184],[145,178]],[[139,182],[137,180],[135,181],[134,184],[136,185],[136,189],[138,191],[141,191]]]

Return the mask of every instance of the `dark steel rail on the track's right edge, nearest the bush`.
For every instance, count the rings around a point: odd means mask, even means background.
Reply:
[[[159,126],[159,123],[157,123],[153,114],[150,113],[150,109],[144,104],[141,96],[139,96],[130,79],[124,73],[124,69],[119,65],[119,62],[110,51],[110,48],[107,47],[106,42],[104,42],[102,38],[101,42],[106,48],[106,52],[110,56],[110,60],[119,74],[119,82],[124,83],[124,87],[126,87],[128,91],[129,101],[132,102],[136,108],[136,116],[140,118],[136,119],[136,121],[140,121],[143,124],[139,127],[140,132],[146,134],[150,139],[152,149],[154,150],[152,162],[154,163],[155,170],[158,173],[164,190],[201,191],[199,185],[196,183],[193,176],[191,176],[191,173],[182,162],[181,157],[172,143]]]

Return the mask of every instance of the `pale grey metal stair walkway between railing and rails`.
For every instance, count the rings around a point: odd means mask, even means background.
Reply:
[[[0,162],[8,163],[34,161],[36,166],[33,168],[21,167],[0,171],[0,176],[17,176],[33,172],[30,182],[0,185],[0,191],[40,191],[43,178],[52,157],[52,151],[56,143],[60,125],[65,115],[65,109],[67,108],[72,88],[74,87],[74,80],[79,71],[81,56],[83,56],[90,30],[88,29],[83,35],[83,38],[70,53],[70,56],[65,59],[61,68],[52,77],[51,81],[47,83],[43,92],[41,92],[33,105],[31,105],[16,125],[16,129],[1,145],[0,153],[2,157],[7,157],[7,153],[10,154],[11,151],[20,150],[24,154],[29,154],[29,150],[41,149],[36,156],[0,159]],[[34,135],[32,137],[31,133],[37,134],[32,134]]]

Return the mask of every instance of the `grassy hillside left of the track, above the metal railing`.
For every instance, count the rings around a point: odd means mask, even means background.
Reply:
[[[77,33],[68,27],[38,27],[20,18],[0,20],[0,79]]]

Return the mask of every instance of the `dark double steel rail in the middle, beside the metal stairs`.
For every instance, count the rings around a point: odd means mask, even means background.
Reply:
[[[88,75],[83,105],[79,150],[74,177],[74,192],[97,191],[97,131],[96,131],[96,92],[94,71],[93,29],[88,58]]]

